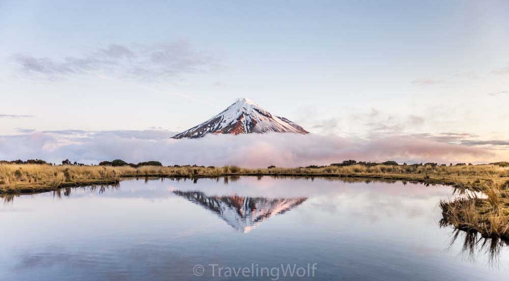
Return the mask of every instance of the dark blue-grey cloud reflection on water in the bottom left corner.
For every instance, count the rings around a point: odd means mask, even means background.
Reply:
[[[76,280],[184,280],[200,261],[182,253],[183,249],[147,243],[98,251],[68,251],[53,245],[45,251],[23,252],[14,269],[18,277],[34,280],[46,280],[42,272]],[[59,275],[55,268],[67,275]]]

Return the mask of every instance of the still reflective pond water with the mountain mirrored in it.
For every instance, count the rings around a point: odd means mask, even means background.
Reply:
[[[6,196],[0,280],[507,279],[507,247],[439,226],[438,203],[451,196],[446,186],[271,177]]]

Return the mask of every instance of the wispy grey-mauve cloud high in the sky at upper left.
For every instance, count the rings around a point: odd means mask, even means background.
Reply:
[[[134,47],[110,44],[78,57],[45,58],[15,53],[12,59],[21,73],[50,80],[91,73],[101,75],[103,72],[119,78],[175,80],[185,74],[222,68],[216,54],[197,51],[184,40]]]

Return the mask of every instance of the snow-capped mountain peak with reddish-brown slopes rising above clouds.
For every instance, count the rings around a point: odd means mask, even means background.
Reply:
[[[241,98],[218,115],[172,138],[197,138],[208,133],[247,134],[265,132],[308,133],[292,121],[272,115],[258,103],[254,103],[248,98]]]

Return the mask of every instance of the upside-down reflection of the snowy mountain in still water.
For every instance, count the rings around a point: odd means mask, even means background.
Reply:
[[[268,199],[238,195],[207,196],[200,191],[180,190],[174,190],[173,193],[217,213],[233,228],[244,233],[251,231],[257,224],[271,216],[285,213],[299,206],[307,199],[303,197]]]

